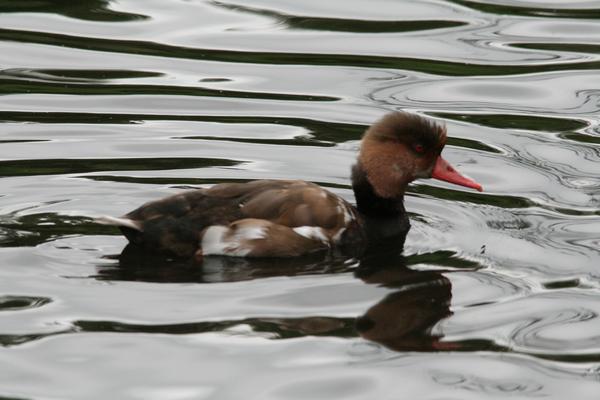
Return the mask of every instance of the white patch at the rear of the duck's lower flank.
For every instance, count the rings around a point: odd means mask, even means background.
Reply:
[[[248,240],[264,239],[264,226],[242,226],[233,230],[227,226],[209,226],[202,236],[202,254],[244,257],[252,251]]]

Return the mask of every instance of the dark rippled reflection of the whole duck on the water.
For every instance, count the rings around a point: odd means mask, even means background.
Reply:
[[[244,323],[255,330],[266,329],[276,337],[284,338],[307,335],[348,337],[353,335],[354,326],[354,335],[358,333],[367,340],[396,351],[453,349],[452,343],[441,342],[441,333],[434,332],[436,324],[452,314],[450,280],[437,271],[410,269],[406,259],[397,250],[371,249],[358,259],[324,257],[322,254],[279,259],[276,262],[272,259],[207,257],[201,264],[197,264],[161,259],[128,247],[120,255],[118,265],[99,267],[96,278],[212,283],[350,271],[366,284],[385,286],[393,291],[355,320],[329,316],[265,317],[223,321],[223,327]],[[211,326],[216,330],[220,329],[220,325]]]

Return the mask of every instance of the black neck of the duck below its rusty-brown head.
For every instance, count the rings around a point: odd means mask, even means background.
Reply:
[[[356,198],[356,208],[365,217],[394,218],[406,214],[404,194],[395,198],[379,196],[359,162],[352,167],[352,189]]]

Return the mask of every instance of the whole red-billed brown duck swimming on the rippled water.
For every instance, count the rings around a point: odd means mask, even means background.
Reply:
[[[197,261],[403,246],[410,229],[404,195],[412,181],[434,178],[483,190],[441,156],[446,140],[446,127],[429,118],[384,115],[363,134],[352,166],[356,205],[312,182],[263,179],[187,190],[96,222],[118,227],[145,251]]]

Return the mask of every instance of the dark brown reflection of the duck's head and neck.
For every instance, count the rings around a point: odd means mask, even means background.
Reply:
[[[450,280],[439,272],[414,271],[401,256],[365,257],[357,277],[370,284],[395,289],[356,319],[365,339],[397,351],[442,350],[452,347],[434,334],[434,326],[452,314]]]

